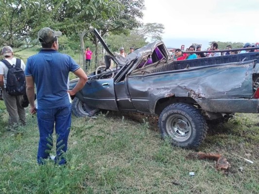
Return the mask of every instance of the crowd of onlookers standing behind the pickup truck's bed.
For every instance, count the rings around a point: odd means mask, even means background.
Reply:
[[[244,44],[243,48],[253,48],[255,47],[254,44],[246,43]],[[231,45],[226,46],[226,50],[232,49]],[[213,50],[213,52],[210,52]],[[201,51],[201,46],[193,46],[191,45],[189,48],[187,48],[185,51]],[[218,51],[218,52],[214,52]],[[239,53],[247,53],[247,52],[253,52],[254,49],[246,49],[246,50],[241,50],[241,51],[227,51],[227,52],[221,52],[219,49],[219,45],[216,42],[213,42],[210,46],[210,48],[207,48],[205,52],[194,52],[194,53],[183,53],[181,49],[174,49],[170,50],[169,53],[171,57],[173,57],[174,60],[190,60],[190,59],[196,59],[196,58],[203,58],[203,57],[216,57],[216,56],[221,56],[221,55],[229,55],[229,54],[239,54]]]

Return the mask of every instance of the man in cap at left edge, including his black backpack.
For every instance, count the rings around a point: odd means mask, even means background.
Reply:
[[[14,51],[9,46],[4,46],[1,54],[4,56],[4,60],[0,61],[0,87],[6,110],[9,113],[9,127],[15,129],[19,125],[26,125],[25,109],[21,106],[26,84],[24,80],[25,64],[14,57]],[[16,79],[12,79],[14,76],[17,76]]]

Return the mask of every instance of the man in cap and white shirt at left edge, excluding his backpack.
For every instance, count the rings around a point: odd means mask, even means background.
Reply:
[[[1,54],[4,56],[4,59],[9,62],[10,65],[16,65],[17,58],[14,57],[14,51],[11,47],[4,46],[2,48]],[[25,70],[25,64],[22,60],[20,67],[23,71]],[[15,130],[19,125],[26,125],[26,115],[25,109],[21,106],[23,95],[11,96],[5,91],[7,72],[8,67],[3,62],[0,62],[0,87],[3,93],[4,104],[9,114],[8,129]]]

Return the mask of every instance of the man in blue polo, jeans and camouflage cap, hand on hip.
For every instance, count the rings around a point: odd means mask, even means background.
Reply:
[[[68,148],[69,129],[71,125],[71,103],[69,95],[75,95],[86,81],[86,73],[76,62],[66,54],[59,53],[58,36],[50,28],[38,32],[42,49],[27,60],[25,68],[26,92],[30,102],[30,113],[37,112],[39,127],[39,146],[37,162],[44,164],[44,159],[50,157],[52,133],[55,126],[57,136],[55,162],[66,163],[63,153]],[[68,90],[69,72],[73,72],[79,81],[72,90]],[[34,85],[37,91],[37,107],[34,102]]]

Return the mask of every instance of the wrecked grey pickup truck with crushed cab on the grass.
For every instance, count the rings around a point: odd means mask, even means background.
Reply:
[[[175,61],[158,41],[124,58],[94,33],[108,54],[105,65],[72,97],[76,116],[100,109],[158,115],[162,137],[189,148],[205,139],[207,120],[259,111],[259,52]],[[77,81],[70,81],[69,88]]]

